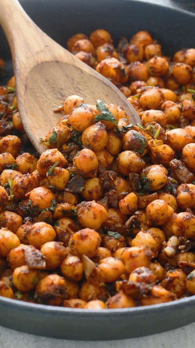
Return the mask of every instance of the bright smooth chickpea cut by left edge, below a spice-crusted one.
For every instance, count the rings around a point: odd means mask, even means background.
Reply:
[[[11,249],[20,244],[18,237],[7,228],[0,229],[0,256],[7,256]]]

